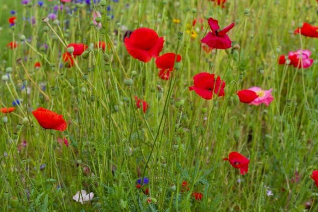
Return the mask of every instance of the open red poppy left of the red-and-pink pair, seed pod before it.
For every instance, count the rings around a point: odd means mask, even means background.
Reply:
[[[205,99],[212,99],[213,93],[218,96],[224,96],[225,82],[219,76],[206,72],[199,73],[194,76],[194,86],[189,90],[194,90],[199,96]]]

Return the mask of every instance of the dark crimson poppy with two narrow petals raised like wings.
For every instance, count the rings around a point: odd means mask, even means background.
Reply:
[[[234,23],[231,23],[224,29],[220,30],[217,20],[213,18],[209,18],[208,22],[212,32],[209,32],[201,40],[201,42],[206,43],[208,46],[212,48],[218,48],[218,49],[230,48],[232,46],[232,41],[230,40],[229,36],[226,33],[234,27]]]

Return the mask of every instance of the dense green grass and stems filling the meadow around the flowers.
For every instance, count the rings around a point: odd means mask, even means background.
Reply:
[[[0,125],[2,210],[15,206],[14,197],[18,211],[302,211],[311,200],[310,210],[318,210],[318,188],[309,177],[318,169],[318,39],[293,33],[304,21],[318,25],[316,1],[229,0],[221,8],[206,0],[107,0],[113,19],[99,4],[83,5],[72,15],[59,12],[59,25],[49,22],[54,32],[66,43],[94,47],[102,40],[110,48],[106,56],[94,48],[72,68],[63,65],[60,53],[66,48],[42,22],[58,1],[44,1],[42,8],[33,2],[28,7],[1,1],[0,74],[8,67],[13,72],[0,84],[0,106],[21,101],[15,112],[2,114],[8,122]],[[7,21],[11,9],[17,9],[14,28]],[[104,12],[106,29],[91,25],[93,10]],[[23,16],[34,16],[35,25]],[[201,48],[210,30],[208,17],[221,27],[235,22],[229,36],[239,50],[207,54]],[[203,30],[200,23],[192,26],[200,18]],[[165,39],[162,53],[181,55],[170,80],[158,77],[154,59],[144,64],[128,54],[122,26],[155,29]],[[21,35],[26,41],[19,41]],[[14,50],[5,47],[12,40],[19,41]],[[43,44],[48,48],[41,49]],[[278,65],[280,55],[300,48],[312,51],[309,69]],[[18,58],[26,59],[23,65]],[[35,62],[41,62],[40,69]],[[200,72],[221,76],[226,95],[205,100],[190,92]],[[127,78],[134,80],[132,86],[125,85]],[[24,79],[29,94],[21,90]],[[40,92],[43,84],[48,98]],[[236,90],[252,86],[273,88],[269,107],[234,104]],[[148,102],[146,114],[136,108],[134,96]],[[62,114],[67,130],[41,128],[31,114],[38,107]],[[63,137],[69,147],[57,142]],[[222,160],[231,151],[249,158],[247,174]],[[136,188],[141,177],[149,178],[148,195]],[[188,191],[182,190],[183,181]],[[93,192],[93,200],[74,201],[81,189]],[[204,197],[195,200],[193,192]]]

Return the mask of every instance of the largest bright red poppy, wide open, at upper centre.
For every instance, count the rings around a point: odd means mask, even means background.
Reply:
[[[139,28],[130,37],[124,39],[128,53],[144,63],[157,58],[163,48],[164,39],[157,32],[149,28]]]

